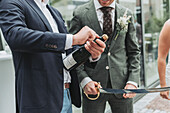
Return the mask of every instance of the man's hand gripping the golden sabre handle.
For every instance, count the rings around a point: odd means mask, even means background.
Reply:
[[[84,87],[84,92],[86,94],[97,95],[96,87],[101,88],[100,84],[94,81],[90,81]]]

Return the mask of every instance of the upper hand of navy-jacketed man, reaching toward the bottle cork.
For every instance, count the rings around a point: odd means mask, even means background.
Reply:
[[[77,34],[73,35],[72,45],[82,45],[86,41],[93,41],[96,37],[99,37],[96,32],[85,26]]]

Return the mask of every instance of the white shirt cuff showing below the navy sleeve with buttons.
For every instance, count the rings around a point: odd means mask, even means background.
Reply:
[[[72,34],[67,34],[66,35],[65,50],[72,48],[72,44],[73,44],[73,35]]]

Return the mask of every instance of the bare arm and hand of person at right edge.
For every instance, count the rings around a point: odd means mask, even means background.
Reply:
[[[170,20],[168,20],[160,33],[158,45],[158,73],[161,87],[166,87],[166,58],[170,49]],[[169,91],[160,93],[162,98],[170,100]]]

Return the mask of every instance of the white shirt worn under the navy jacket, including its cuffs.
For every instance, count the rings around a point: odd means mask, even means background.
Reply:
[[[34,0],[34,1],[43,12],[46,19],[48,20],[53,32],[59,33],[57,23],[54,20],[53,16],[51,15],[50,11],[46,7],[49,0],[43,0],[43,2],[42,0]],[[72,41],[73,41],[73,36],[71,34],[67,34],[65,50],[72,48]],[[66,53],[62,54],[62,58],[64,57],[66,57]],[[70,73],[65,69],[63,69],[63,73],[64,73],[64,83],[71,83]]]

